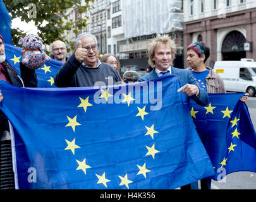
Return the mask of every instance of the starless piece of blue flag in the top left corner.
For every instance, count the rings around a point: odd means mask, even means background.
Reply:
[[[11,39],[11,18],[4,6],[3,0],[0,0],[0,34],[4,38],[4,43],[13,44]]]

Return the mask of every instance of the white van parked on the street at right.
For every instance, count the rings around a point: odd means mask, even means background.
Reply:
[[[256,62],[243,58],[241,61],[216,61],[214,71],[221,76],[229,92],[256,93]]]

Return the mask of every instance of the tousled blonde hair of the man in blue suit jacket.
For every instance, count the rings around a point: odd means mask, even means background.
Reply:
[[[173,39],[171,39],[171,37],[169,37],[169,35],[161,35],[161,34],[157,34],[157,36],[155,37],[155,39],[153,39],[149,46],[148,46],[148,53],[149,53],[149,66],[154,68],[155,67],[155,61],[153,61],[153,57],[155,55],[155,47],[157,47],[158,45],[169,45],[171,47],[171,59],[173,60],[175,58],[175,53],[176,53],[176,44],[175,41]]]

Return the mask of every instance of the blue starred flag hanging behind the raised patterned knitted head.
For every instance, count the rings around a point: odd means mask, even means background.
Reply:
[[[6,62],[8,62],[9,66],[15,69],[15,71],[20,75],[19,62],[22,61],[21,48],[9,44],[4,44],[4,47],[6,54]],[[45,62],[41,68],[35,69],[35,73],[37,73],[38,87],[56,87],[54,85],[53,78],[58,73],[59,68],[61,66],[63,66],[63,62],[51,59],[51,61]]]

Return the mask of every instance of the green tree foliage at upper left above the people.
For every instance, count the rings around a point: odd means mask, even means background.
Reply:
[[[89,3],[94,0],[4,0],[11,19],[17,17],[21,21],[34,21],[45,44],[51,44],[55,40],[63,40],[66,44],[73,42],[64,38],[64,30],[73,32],[75,35],[82,32],[87,26],[87,18],[82,18],[82,13],[87,13]],[[70,9],[75,11],[75,20],[68,20]],[[36,12],[35,12],[36,10]],[[36,16],[35,16],[36,13]],[[64,23],[66,21],[66,23]],[[46,24],[46,26],[44,26]],[[20,37],[25,37],[26,33],[19,28],[12,30],[13,44],[17,45]]]

